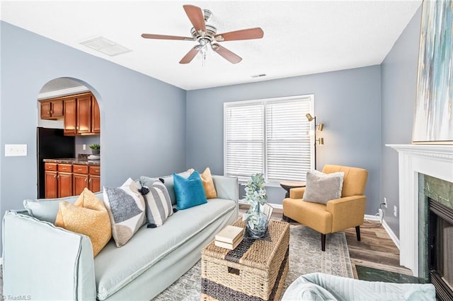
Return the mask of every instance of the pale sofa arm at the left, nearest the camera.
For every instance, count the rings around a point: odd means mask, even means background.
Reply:
[[[96,300],[90,239],[17,211],[3,218],[3,275],[4,296]]]

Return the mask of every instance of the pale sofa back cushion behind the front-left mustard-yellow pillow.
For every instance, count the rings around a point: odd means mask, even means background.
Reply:
[[[101,201],[103,200],[103,193],[96,192],[94,194]],[[38,220],[55,224],[57,218],[58,206],[60,201],[67,201],[68,203],[75,203],[79,196],[67,196],[59,199],[25,199],[23,207],[27,209],[28,214]]]

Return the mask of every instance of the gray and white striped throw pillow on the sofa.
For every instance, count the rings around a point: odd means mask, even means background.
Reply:
[[[147,203],[148,227],[160,227],[164,225],[168,216],[173,214],[171,199],[165,185],[159,180],[147,188],[149,192],[145,195],[145,200]]]

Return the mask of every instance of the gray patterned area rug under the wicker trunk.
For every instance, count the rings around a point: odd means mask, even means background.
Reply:
[[[294,280],[306,273],[321,272],[354,278],[344,232],[326,235],[326,252],[321,251],[321,235],[304,225],[291,225],[289,236],[289,271],[284,291]],[[168,287],[155,301],[200,300],[201,264],[195,264]]]

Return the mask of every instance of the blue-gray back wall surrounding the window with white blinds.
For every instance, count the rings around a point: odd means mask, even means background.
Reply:
[[[188,91],[186,167],[210,167],[212,173],[223,175],[224,102],[305,94],[314,94],[316,119],[324,124],[325,144],[317,148],[317,169],[325,164],[366,168],[366,212],[377,213],[382,145],[380,66]],[[285,190],[266,190],[270,203],[282,203]]]

